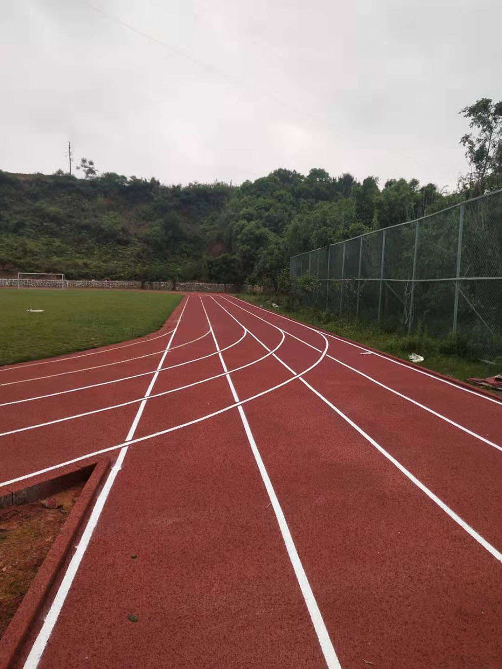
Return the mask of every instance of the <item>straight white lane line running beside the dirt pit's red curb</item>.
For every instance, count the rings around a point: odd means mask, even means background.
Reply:
[[[165,351],[163,353],[163,356],[159,362],[159,365],[157,366],[157,370],[155,375],[150,381],[150,385],[147,389],[147,392],[145,393],[145,397],[148,397],[149,393],[151,393],[151,390],[153,389],[153,385],[155,381],[157,380],[157,377],[159,375],[159,371],[161,369],[161,365],[163,361],[165,360],[165,357],[167,355],[167,352],[169,351],[169,347],[171,346],[171,342],[173,341],[173,338],[176,334],[177,328],[179,326],[179,323],[181,322],[181,318],[183,318],[183,313],[185,312],[185,308],[188,304],[189,297],[187,297],[187,300],[185,304],[183,304],[183,310],[181,311],[181,314],[179,316],[179,320],[176,324],[176,327],[174,328],[171,337],[169,337],[169,341],[167,343],[167,346],[165,347]],[[143,409],[145,408],[145,403],[146,399],[143,400],[141,405],[138,408],[138,411],[135,415],[135,418],[133,420],[133,423],[131,424],[131,427],[129,428],[129,432],[127,434],[126,442],[131,442],[133,439],[135,430],[137,428],[137,425],[139,423],[139,419],[141,418],[141,415],[143,413]],[[68,595],[68,592],[70,591],[70,587],[72,586],[73,579],[78,571],[78,567],[80,566],[80,563],[82,562],[82,558],[84,557],[84,553],[86,552],[86,549],[89,545],[90,538],[92,537],[92,533],[94,532],[94,529],[96,525],[98,524],[99,517],[101,515],[101,512],[103,510],[104,504],[106,502],[106,498],[108,498],[108,494],[112,488],[112,485],[114,483],[114,480],[116,478],[116,475],[118,474],[119,470],[122,468],[122,462],[124,461],[125,455],[127,453],[128,446],[124,446],[121,450],[120,453],[118,454],[118,458],[116,459],[116,462],[114,466],[112,467],[112,470],[110,471],[110,474],[108,474],[108,478],[106,478],[106,482],[98,495],[98,499],[96,500],[96,504],[94,504],[94,508],[92,509],[92,513],[90,514],[90,518],[86,524],[86,528],[84,529],[84,533],[82,534],[82,538],[80,539],[80,542],[78,546],[76,547],[76,551],[73,554],[72,559],[70,560],[70,564],[68,565],[68,569],[66,570],[66,573],[63,577],[63,580],[61,582],[60,587],[58,588],[58,592],[56,593],[56,597],[54,598],[54,601],[52,602],[52,605],[48,611],[48,614],[46,615],[46,619],[44,620],[44,624],[41,626],[41,630],[39,631],[37,638],[35,639],[35,642],[33,643],[33,646],[31,646],[31,650],[29,652],[29,655],[27,656],[26,662],[24,664],[24,669],[36,669],[38,666],[38,663],[40,661],[40,658],[42,654],[44,653],[44,650],[46,648],[47,642],[49,640],[49,637],[52,634],[52,630],[54,630],[54,626],[56,625],[56,622],[58,620],[58,616],[60,614],[60,611],[64,605],[64,601],[66,599],[66,596]]]

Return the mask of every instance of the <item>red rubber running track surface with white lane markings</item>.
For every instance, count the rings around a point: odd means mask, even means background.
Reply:
[[[18,666],[502,667],[501,403],[236,298],[157,334],[0,370],[52,395],[2,433],[154,381],[0,437],[0,483],[120,454]]]

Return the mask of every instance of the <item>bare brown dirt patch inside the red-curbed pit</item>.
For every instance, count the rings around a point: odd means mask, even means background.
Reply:
[[[84,485],[85,481],[48,499],[0,508],[0,638]]]

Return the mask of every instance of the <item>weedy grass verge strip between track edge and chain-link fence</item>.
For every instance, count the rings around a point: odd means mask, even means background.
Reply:
[[[442,341],[428,334],[402,335],[398,332],[386,332],[376,323],[365,323],[356,320],[343,320],[333,314],[324,314],[319,310],[300,306],[294,310],[288,310],[283,304],[282,298],[270,295],[248,295],[240,294],[240,298],[252,304],[264,306],[272,311],[297,318],[303,322],[338,334],[340,337],[357,341],[378,351],[391,353],[398,358],[408,360],[410,353],[418,353],[424,357],[422,367],[434,369],[437,372],[465,381],[469,377],[489,377],[502,371],[502,359],[495,359],[495,365],[483,363],[469,355],[458,355],[452,342]],[[278,303],[278,308],[272,308],[272,302]],[[448,352],[448,347],[451,352]],[[456,347],[458,349],[458,346]],[[501,393],[495,392],[497,397]]]

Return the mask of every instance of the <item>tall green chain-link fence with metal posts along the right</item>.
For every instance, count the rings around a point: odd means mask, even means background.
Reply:
[[[290,276],[309,306],[502,353],[502,190],[293,256]]]

